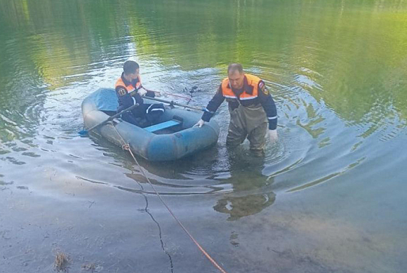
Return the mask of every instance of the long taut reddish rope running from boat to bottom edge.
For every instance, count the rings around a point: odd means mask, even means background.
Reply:
[[[140,172],[142,173],[142,176],[145,177],[145,179],[147,180],[147,182],[149,183],[150,187],[152,187],[152,189],[154,190],[154,193],[156,194],[157,197],[159,197],[160,201],[162,204],[164,204],[164,206],[167,208],[168,212],[171,214],[171,216],[173,216],[173,218],[175,219],[176,222],[178,222],[178,225],[180,225],[180,227],[184,230],[185,233],[187,233],[189,239],[191,239],[194,244],[198,247],[199,251],[201,251],[205,257],[217,268],[219,269],[220,272],[222,273],[227,273],[225,271],[225,269],[223,269],[222,267],[220,267],[220,265],[218,265],[218,262],[216,262],[215,260],[213,260],[213,258],[211,257],[211,255],[209,255],[205,249],[198,243],[198,241],[196,241],[196,239],[192,236],[192,234],[190,234],[187,230],[186,227],[184,227],[184,225],[182,225],[182,222],[180,220],[178,220],[178,218],[175,216],[175,214],[173,213],[173,211],[171,211],[171,208],[166,204],[166,202],[164,201],[164,199],[161,198],[161,195],[159,194],[159,192],[157,192],[157,190],[155,189],[155,187],[152,185],[152,182],[149,180],[149,178],[147,177],[147,175],[145,175],[145,172],[143,171],[142,167],[140,166],[140,164],[138,164],[138,160],[135,158],[133,152],[130,149],[130,145],[129,143],[127,143],[124,138],[121,136],[121,134],[119,133],[119,131],[117,130],[116,126],[114,124],[112,124],[114,130],[116,131],[117,135],[119,135],[119,137],[121,138],[121,141],[123,142],[123,144],[121,145],[121,149],[123,150],[127,150],[128,152],[130,152],[131,157],[133,157],[135,163],[137,164]]]

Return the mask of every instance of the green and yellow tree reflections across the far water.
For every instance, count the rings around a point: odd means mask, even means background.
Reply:
[[[184,70],[262,67],[255,74],[301,86],[356,124],[407,119],[405,1],[325,2],[0,0],[0,51],[13,56],[0,63],[0,83],[25,64],[53,90],[135,48],[141,60]]]

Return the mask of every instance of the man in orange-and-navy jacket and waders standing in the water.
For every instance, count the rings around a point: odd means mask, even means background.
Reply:
[[[227,78],[222,81],[195,126],[201,128],[208,122],[225,99],[229,102],[230,112],[226,144],[240,145],[248,138],[251,151],[264,154],[265,136],[269,136],[271,143],[278,139],[276,105],[264,81],[245,74],[240,64],[229,65]]]

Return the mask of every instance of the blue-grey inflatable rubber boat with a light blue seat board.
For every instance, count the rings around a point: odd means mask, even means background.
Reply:
[[[154,101],[145,99],[145,103]],[[116,114],[117,106],[114,89],[98,89],[82,102],[84,126],[91,128],[105,121]],[[218,142],[219,126],[216,121],[212,119],[201,128],[192,127],[199,119],[201,113],[168,106],[159,123],[147,128],[114,119],[95,128],[93,133],[121,146],[124,143],[119,132],[131,150],[140,157],[149,161],[170,161],[187,157]]]

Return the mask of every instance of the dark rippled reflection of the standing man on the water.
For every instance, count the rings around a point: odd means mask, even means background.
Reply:
[[[230,175],[226,182],[233,192],[225,194],[213,206],[215,211],[229,214],[227,220],[238,220],[244,216],[260,213],[271,206],[276,194],[270,188],[272,180],[262,175],[264,157],[255,157],[243,147],[229,149]]]

